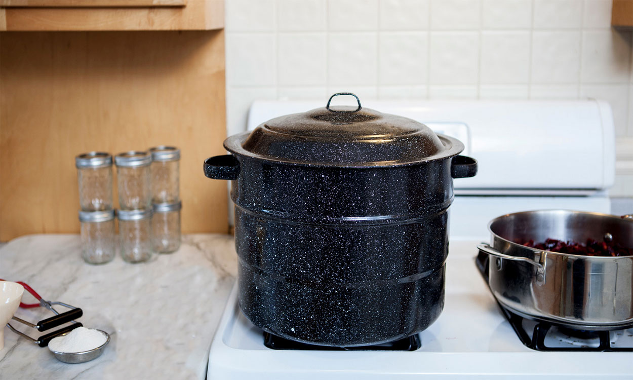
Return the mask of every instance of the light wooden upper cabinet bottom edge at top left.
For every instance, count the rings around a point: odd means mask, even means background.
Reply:
[[[53,6],[53,3],[56,4]],[[0,0],[0,7],[3,7],[0,8],[0,30],[214,30],[224,27],[222,0]]]

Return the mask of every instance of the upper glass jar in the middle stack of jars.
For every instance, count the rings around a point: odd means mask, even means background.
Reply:
[[[128,151],[115,156],[121,210],[144,210],[151,207],[151,163],[152,156],[147,152]]]

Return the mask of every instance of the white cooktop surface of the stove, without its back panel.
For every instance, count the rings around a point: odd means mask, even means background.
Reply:
[[[234,287],[211,342],[208,378],[631,378],[630,352],[537,352],[523,345],[475,266],[476,246],[485,240],[451,239],[444,311],[419,334],[420,348],[410,352],[268,348],[263,331],[239,311]],[[626,346],[627,339],[633,342],[633,329],[622,331],[615,343]],[[582,345],[564,340],[556,345]]]

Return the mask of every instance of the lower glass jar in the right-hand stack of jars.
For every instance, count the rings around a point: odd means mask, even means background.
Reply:
[[[182,202],[154,203],[152,246],[154,252],[172,253],[180,248],[180,209]]]

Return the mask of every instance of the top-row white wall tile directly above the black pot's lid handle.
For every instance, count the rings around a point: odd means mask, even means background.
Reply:
[[[377,30],[378,0],[328,0],[330,30]]]

